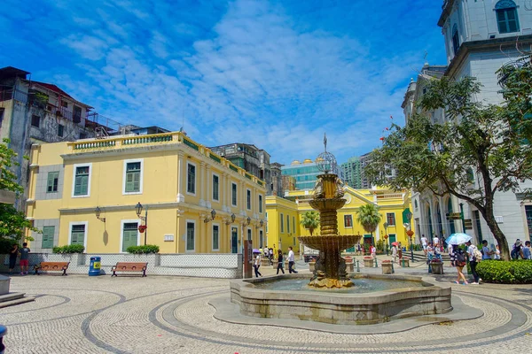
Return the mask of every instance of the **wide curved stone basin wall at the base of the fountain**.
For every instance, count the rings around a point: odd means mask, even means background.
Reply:
[[[405,275],[356,274],[368,281],[413,281],[415,287],[367,293],[302,289],[272,290],[257,285],[283,279],[308,280],[309,275],[278,275],[231,281],[231,302],[246,316],[271,319],[301,319],[341,325],[371,325],[412,316],[446,313],[452,310],[450,286],[429,278]]]

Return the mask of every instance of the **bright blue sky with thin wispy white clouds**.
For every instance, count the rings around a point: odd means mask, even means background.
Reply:
[[[103,116],[254,143],[272,162],[379,145],[424,63],[445,64],[442,1],[4,0],[0,66]]]

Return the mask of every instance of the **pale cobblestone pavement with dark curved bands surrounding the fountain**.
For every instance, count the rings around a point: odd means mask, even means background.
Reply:
[[[262,268],[265,275],[275,273]],[[396,271],[416,272],[425,274],[426,268]],[[453,270],[446,272],[439,281],[451,280]],[[481,308],[484,316],[395,334],[338,335],[214,319],[207,302],[229,296],[228,280],[15,276],[12,291],[36,299],[2,309],[0,323],[8,327],[6,354],[531,352],[532,286],[452,287],[453,294]]]

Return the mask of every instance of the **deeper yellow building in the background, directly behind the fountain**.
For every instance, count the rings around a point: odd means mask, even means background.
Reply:
[[[266,197],[266,212],[268,212],[267,238],[268,247],[273,244],[278,246],[281,242],[283,250],[288,246],[293,246],[294,251],[300,249],[297,236],[310,235],[309,230],[300,224],[300,217],[305,212],[313,211],[309,205],[312,198],[312,190],[288,191],[285,198],[278,196]],[[347,203],[338,211],[338,231],[340,235],[364,235],[364,242],[378,242],[385,240],[384,235],[388,235],[387,242],[401,242],[403,246],[408,246],[409,240],[406,235],[408,228],[405,224],[409,222],[408,213],[411,211],[410,192],[394,192],[387,189],[351,189],[348,187],[344,198]],[[364,231],[364,228],[356,222],[356,211],[361,205],[374,203],[379,205],[381,222],[377,230],[371,234]],[[290,228],[290,233],[286,228],[287,219],[294,220],[295,230]],[[283,220],[283,222],[281,222]],[[292,221],[291,221],[292,222]],[[384,227],[385,222],[387,227]],[[314,231],[314,235],[319,235],[319,228]],[[295,238],[295,241],[293,240]]]

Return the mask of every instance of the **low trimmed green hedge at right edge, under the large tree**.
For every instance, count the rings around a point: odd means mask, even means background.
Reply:
[[[531,284],[532,261],[517,259],[511,261],[483,260],[476,267],[482,281],[502,284]]]

